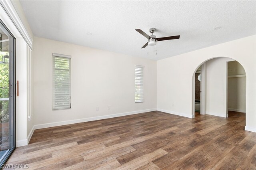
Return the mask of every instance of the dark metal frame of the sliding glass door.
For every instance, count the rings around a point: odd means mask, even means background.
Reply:
[[[9,37],[9,150],[0,162],[0,169],[16,148],[16,39],[0,20],[1,29]]]

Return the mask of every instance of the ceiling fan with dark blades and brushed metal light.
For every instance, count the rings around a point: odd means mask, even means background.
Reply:
[[[148,42],[145,43],[141,48],[145,48],[146,46],[150,45],[156,45],[156,42],[159,41],[164,41],[164,40],[174,40],[174,39],[179,39],[180,36],[170,36],[170,37],[162,37],[162,38],[156,38],[156,36],[153,35],[153,33],[156,31],[156,28],[150,28],[149,32],[151,33],[151,36],[148,36],[145,32],[143,32],[140,29],[136,29],[142,36],[146,37],[148,39]]]

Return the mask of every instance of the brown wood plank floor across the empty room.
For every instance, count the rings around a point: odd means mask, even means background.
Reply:
[[[194,119],[159,111],[34,131],[7,164],[29,169],[256,169],[245,114]]]

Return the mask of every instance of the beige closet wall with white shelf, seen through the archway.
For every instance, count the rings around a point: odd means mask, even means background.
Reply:
[[[240,63],[228,62],[228,76],[245,74]],[[228,78],[228,110],[246,113],[246,76]]]

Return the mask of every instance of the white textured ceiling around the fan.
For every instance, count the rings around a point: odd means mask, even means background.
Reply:
[[[21,4],[35,36],[154,60],[256,34],[256,1],[26,0]],[[147,34],[156,28],[157,38],[180,35],[180,39],[141,49],[147,39],[135,31],[138,28]]]

